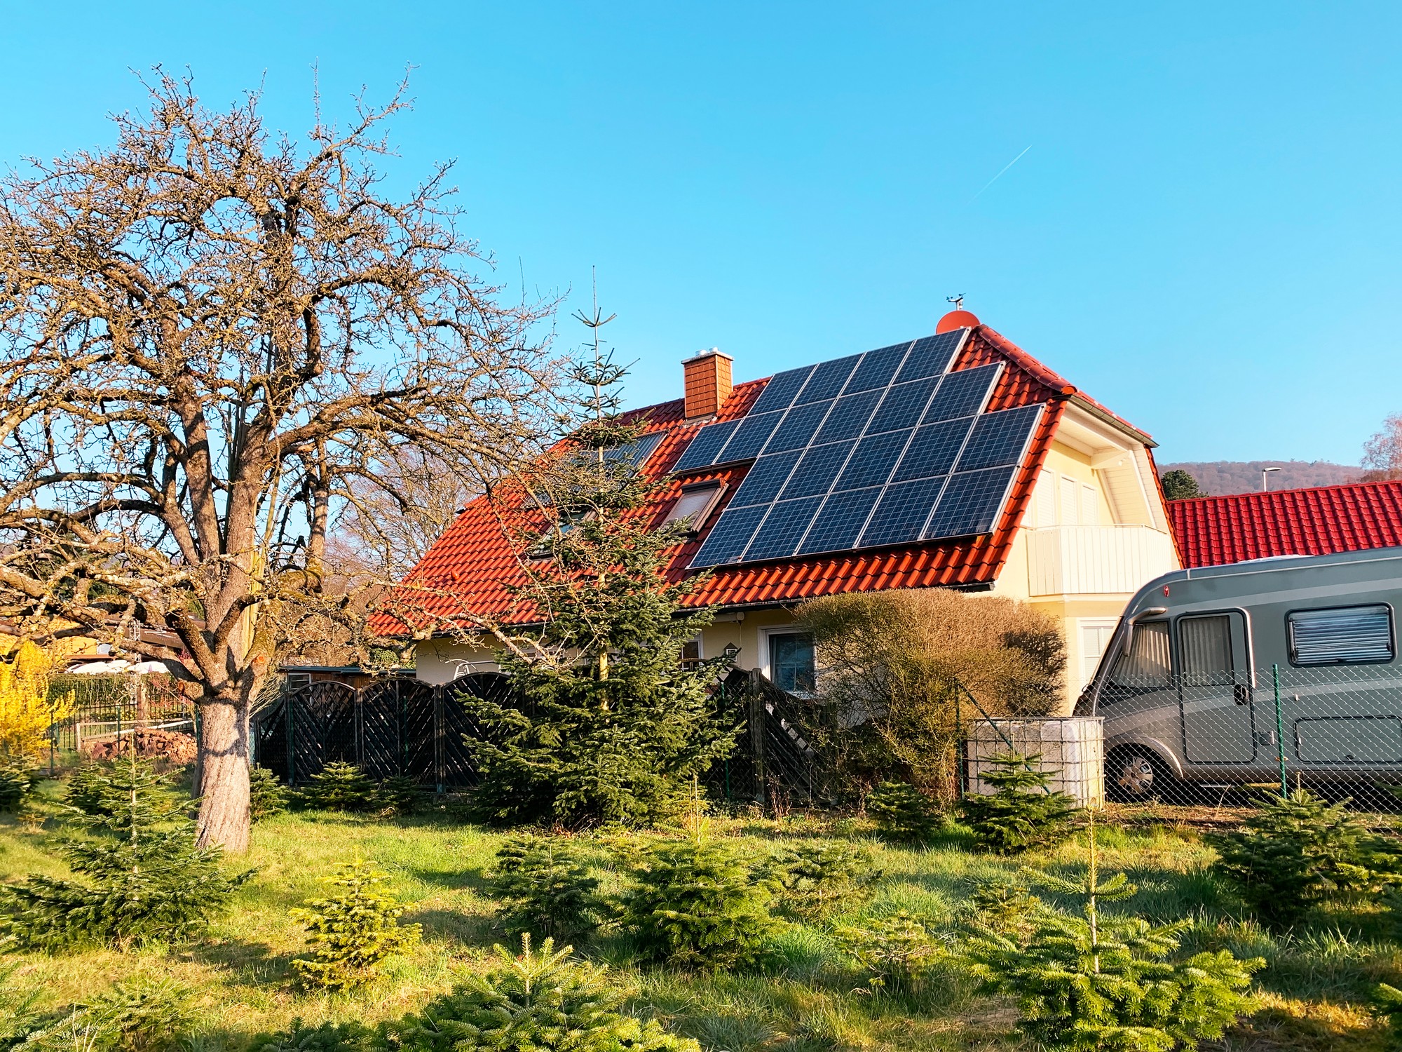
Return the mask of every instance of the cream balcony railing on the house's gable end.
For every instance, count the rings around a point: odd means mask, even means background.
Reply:
[[[1173,567],[1172,539],[1150,526],[1028,530],[1029,595],[1136,592]]]

